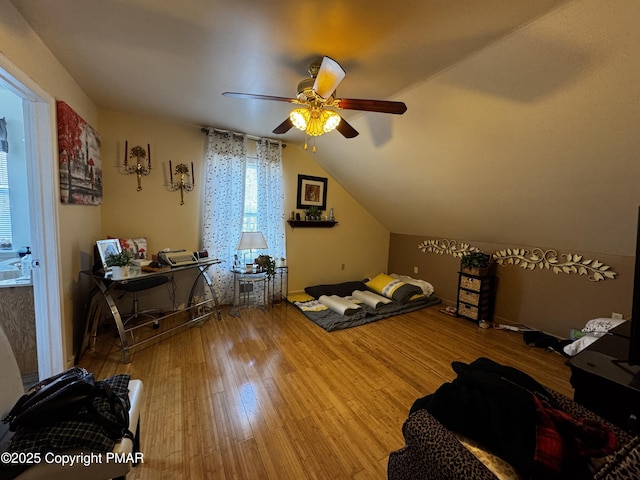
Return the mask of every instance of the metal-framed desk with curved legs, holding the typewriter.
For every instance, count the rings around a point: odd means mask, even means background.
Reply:
[[[213,288],[213,285],[211,284],[211,279],[209,278],[209,275],[207,275],[207,270],[209,269],[209,267],[211,267],[212,265],[218,265],[220,263],[222,262],[217,259],[202,260],[192,265],[183,265],[180,267],[173,267],[170,270],[165,270],[161,272],[140,272],[122,280],[111,280],[109,278],[109,274],[107,274],[107,276],[105,277],[102,273],[97,273],[90,270],[82,272],[85,275],[89,275],[93,279],[93,281],[97,285],[100,292],[102,292],[102,296],[104,297],[105,301],[107,302],[107,305],[109,307],[113,320],[116,324],[116,328],[118,330],[118,336],[120,338],[120,346],[122,348],[124,363],[129,363],[131,361],[130,350],[134,347],[137,347],[139,345],[142,345],[143,343],[149,342],[152,339],[162,337],[163,335],[173,332],[178,328],[182,328],[185,325],[190,325],[192,323],[205,320],[212,313],[215,313],[218,320],[220,320],[220,305],[218,304],[218,297]],[[184,270],[193,270],[193,269],[198,269],[199,273],[194,279],[193,284],[191,285],[191,291],[189,292],[189,297],[186,303],[187,308],[178,312],[172,312],[168,315],[164,315],[157,319],[149,320],[144,323],[137,323],[131,327],[126,327],[124,325],[122,321],[122,316],[120,315],[120,311],[118,310],[116,302],[114,301],[111,295],[112,292],[116,289],[117,285],[126,284],[128,282],[135,282],[136,280],[142,280],[144,278],[149,278],[149,277],[158,276],[158,275],[162,275],[162,276],[172,275],[175,272],[184,271]],[[196,287],[198,285],[198,280],[200,279],[204,280],[206,287],[211,293],[211,298],[202,300],[198,303],[194,303],[194,294],[195,294]],[[205,306],[210,304],[214,305],[213,312],[206,311],[204,308]],[[144,338],[142,340],[136,340],[135,333],[137,329],[155,324],[159,320],[162,320],[168,317],[173,317],[178,313],[183,313],[183,312],[188,312],[190,314],[188,316],[185,315],[185,321],[183,323],[180,323],[178,325],[175,325],[163,331],[158,331],[155,335],[151,337]],[[92,327],[89,327],[90,325],[92,325]],[[91,331],[91,330],[95,330],[96,328],[97,328],[97,319],[96,318],[88,319],[87,330]]]

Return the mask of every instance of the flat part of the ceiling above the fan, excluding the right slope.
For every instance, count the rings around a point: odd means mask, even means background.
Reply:
[[[12,3],[99,107],[273,136],[289,105],[221,93],[295,96],[328,55],[347,71],[340,96],[391,98],[562,2]]]

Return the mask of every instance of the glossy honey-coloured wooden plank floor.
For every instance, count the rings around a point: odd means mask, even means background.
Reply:
[[[291,305],[224,310],[134,353],[88,352],[104,378],[144,382],[144,464],[128,479],[384,479],[413,401],[486,356],[568,396],[569,367],[522,336],[430,307],[325,332]]]

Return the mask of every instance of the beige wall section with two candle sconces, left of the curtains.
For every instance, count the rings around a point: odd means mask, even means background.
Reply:
[[[104,204],[100,238],[147,237],[149,252],[165,247],[197,250],[200,248],[200,193],[198,179],[205,136],[193,125],[165,119],[100,111]],[[124,144],[151,149],[151,173],[142,177],[137,191],[136,175],[120,173]],[[179,192],[167,190],[169,160],[190,165],[193,162],[196,188],[185,194],[180,205]],[[97,240],[95,238],[94,240]]]

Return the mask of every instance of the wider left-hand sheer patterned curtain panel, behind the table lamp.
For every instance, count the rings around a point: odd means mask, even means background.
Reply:
[[[233,303],[231,266],[242,233],[246,160],[246,135],[209,129],[202,182],[202,245],[210,256],[226,261],[209,270],[221,304]]]

